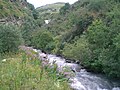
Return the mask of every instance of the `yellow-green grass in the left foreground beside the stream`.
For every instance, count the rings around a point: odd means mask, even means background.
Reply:
[[[0,90],[70,90],[55,68],[45,69],[37,59],[19,53],[6,60],[0,60]]]

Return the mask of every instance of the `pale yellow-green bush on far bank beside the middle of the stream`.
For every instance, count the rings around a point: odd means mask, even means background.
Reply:
[[[83,36],[73,44],[66,44],[63,49],[63,55],[74,60],[79,60],[80,62],[90,60],[88,45],[88,42]]]

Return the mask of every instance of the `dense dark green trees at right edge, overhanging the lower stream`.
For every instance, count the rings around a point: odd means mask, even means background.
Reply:
[[[113,19],[114,21],[115,19]],[[119,23],[119,22],[118,22]],[[117,23],[117,24],[118,24]],[[106,26],[102,21],[95,21],[92,26],[89,27],[87,32],[87,39],[90,43],[90,49],[92,51],[92,63],[93,69],[98,68],[97,71],[102,71],[111,77],[120,77],[119,68],[119,48],[114,43],[117,40],[119,43],[118,27],[112,23],[111,26]],[[114,29],[113,29],[114,27]],[[114,32],[114,33],[113,33]]]

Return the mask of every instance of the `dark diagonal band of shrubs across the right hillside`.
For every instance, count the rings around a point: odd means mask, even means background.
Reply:
[[[66,42],[72,41],[76,36],[80,36],[83,34],[83,32],[88,28],[90,24],[92,24],[93,17],[90,15],[84,15],[75,20],[75,28],[71,31],[68,31],[64,35],[64,40]]]

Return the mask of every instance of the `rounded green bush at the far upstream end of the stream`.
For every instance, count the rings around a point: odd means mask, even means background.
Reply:
[[[54,49],[54,40],[49,32],[38,31],[32,37],[32,45],[36,48],[45,51],[52,51]]]

